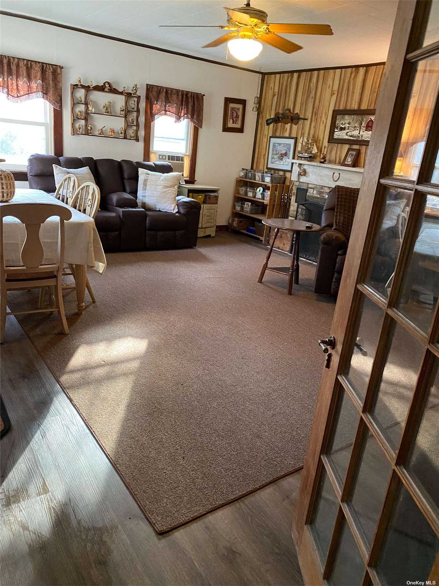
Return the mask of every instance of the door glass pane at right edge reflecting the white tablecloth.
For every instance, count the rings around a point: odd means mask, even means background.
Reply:
[[[419,195],[418,197],[424,197]],[[439,295],[439,197],[427,195],[397,309],[425,334]]]

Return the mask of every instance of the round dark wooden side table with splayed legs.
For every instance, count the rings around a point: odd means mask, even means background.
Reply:
[[[287,220],[285,218],[270,218],[266,220],[262,220],[262,223],[266,226],[270,226],[270,228],[275,229],[275,234],[273,236],[273,241],[270,244],[269,251],[265,257],[264,264],[262,265],[262,269],[260,270],[258,283],[262,283],[262,279],[265,275],[265,271],[273,271],[279,272],[282,275],[288,275],[288,295],[291,295],[291,289],[293,288],[293,280],[294,285],[299,284],[299,240],[300,240],[300,233],[301,232],[318,232],[321,230],[321,226],[318,224],[313,224],[312,228],[306,228],[307,222],[303,222],[302,220]],[[290,267],[273,267],[270,268],[268,266],[268,261],[273,251],[273,246],[275,246],[275,241],[277,238],[277,234],[279,234],[279,230],[287,230],[293,233],[293,255],[291,256],[291,264]]]

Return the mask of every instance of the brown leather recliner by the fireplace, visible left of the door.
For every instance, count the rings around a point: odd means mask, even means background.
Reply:
[[[358,195],[359,189],[351,189]],[[334,230],[337,188],[332,188],[323,208],[320,236],[320,251],[314,278],[314,292],[337,297],[341,275],[345,265],[349,239],[339,230]]]

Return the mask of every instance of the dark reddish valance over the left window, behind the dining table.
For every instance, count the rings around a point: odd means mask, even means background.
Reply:
[[[0,91],[12,102],[44,98],[61,110],[60,65],[0,56]]]

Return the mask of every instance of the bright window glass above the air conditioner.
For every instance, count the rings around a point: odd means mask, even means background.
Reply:
[[[192,124],[188,120],[176,122],[170,116],[160,116],[152,124],[154,152],[189,155],[191,149]]]

